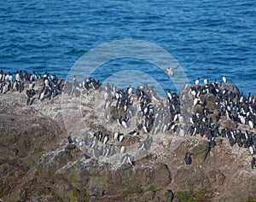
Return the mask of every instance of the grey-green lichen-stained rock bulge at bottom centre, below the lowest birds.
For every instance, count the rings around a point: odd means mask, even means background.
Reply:
[[[101,163],[96,159],[74,161],[79,153],[79,149],[74,148],[72,152],[66,149],[54,153],[42,153],[38,157],[39,175],[44,177],[45,181],[54,183],[55,194],[64,197],[63,199],[67,201],[74,201],[73,190],[78,192],[78,198],[83,198],[85,194],[88,197],[93,195],[96,198],[112,199],[112,196],[120,197],[124,190],[127,192],[137,188],[147,190],[149,185],[154,188],[164,188],[172,180],[166,164],[155,162],[135,167],[123,164],[119,169],[113,170],[112,164]]]

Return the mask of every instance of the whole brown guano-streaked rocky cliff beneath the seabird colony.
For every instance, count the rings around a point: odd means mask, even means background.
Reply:
[[[212,101],[208,106],[212,111],[218,109],[212,96],[205,99]],[[84,151],[67,143],[59,98],[32,107],[25,103],[22,94],[1,97],[3,201],[238,202],[255,197],[256,173],[250,168],[251,156],[246,148],[230,147],[227,139],[218,138],[218,147],[209,153],[205,137],[154,136],[153,149],[134,166],[114,166],[84,159]],[[84,116],[90,115],[90,122],[96,122],[95,114],[88,112]],[[232,123],[223,120],[220,124],[227,127]],[[124,145],[129,142],[127,137]],[[187,165],[183,159],[188,152],[192,153],[192,164]]]

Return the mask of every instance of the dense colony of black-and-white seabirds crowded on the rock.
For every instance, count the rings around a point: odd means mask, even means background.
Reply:
[[[35,85],[38,90],[35,90]],[[212,84],[205,79],[200,84],[200,78],[195,80],[195,85],[184,85],[182,93],[177,94],[168,89],[166,97],[157,97],[154,87],[144,85],[133,90],[119,89],[109,84],[105,89],[99,80],[86,78],[82,83],[74,76],[73,82],[65,82],[55,75],[36,74],[18,71],[15,77],[8,72],[0,71],[0,93],[25,90],[27,105],[32,105],[34,99],[44,101],[53,99],[62,93],[79,96],[84,91],[99,90],[104,92],[105,121],[116,122],[127,134],[113,131],[113,134],[104,134],[102,130],[94,131],[93,136],[86,136],[83,141],[77,141],[72,135],[68,136],[68,142],[78,146],[90,147],[90,157],[109,157],[117,153],[113,140],[120,143],[125,138],[137,138],[138,150],[148,151],[152,142],[152,136],[158,134],[176,134],[178,136],[206,136],[208,140],[208,152],[216,146],[216,138],[227,138],[230,146],[245,147],[252,155],[252,169],[256,167],[253,156],[256,152],[256,95],[249,93],[242,95],[235,85],[227,84],[223,76],[222,82],[215,81]],[[135,127],[131,128],[131,119],[136,119]],[[229,123],[229,124],[226,124]],[[230,124],[231,123],[231,124]],[[148,134],[143,138],[140,134]],[[101,141],[105,147],[96,147]],[[97,148],[97,149],[96,149]],[[122,163],[135,164],[134,157],[125,153],[125,146],[120,146],[118,153],[123,153]],[[189,164],[191,155],[186,154],[185,163]]]

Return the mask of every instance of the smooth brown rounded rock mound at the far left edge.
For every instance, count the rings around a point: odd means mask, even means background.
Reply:
[[[0,196],[10,193],[7,201],[26,199],[29,193],[20,184],[34,183],[33,161],[53,147],[62,133],[53,119],[20,103],[15,96],[1,97]]]

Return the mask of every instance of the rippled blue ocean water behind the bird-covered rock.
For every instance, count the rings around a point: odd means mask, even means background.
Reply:
[[[256,1],[6,0],[0,4],[0,69],[5,72],[48,71],[67,78],[88,51],[124,39],[166,50],[175,58],[170,66],[179,64],[189,84],[196,78],[220,82],[224,75],[244,95],[256,95]],[[109,53],[122,51],[115,48]],[[154,58],[159,53],[147,55]],[[109,60],[91,76],[110,82],[118,78],[124,84],[132,83],[129,79],[135,84],[148,82],[148,77],[127,71],[143,72],[163,89],[175,90],[159,66],[136,56]]]

